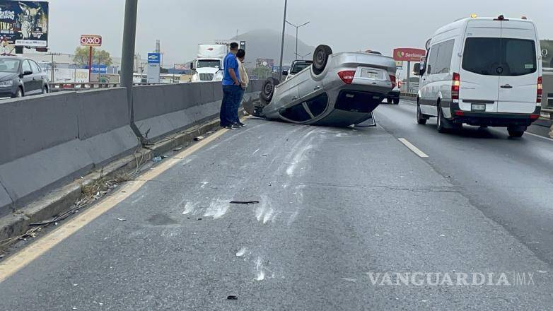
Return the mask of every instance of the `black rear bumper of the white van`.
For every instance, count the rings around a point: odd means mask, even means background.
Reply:
[[[470,125],[489,125],[492,127],[508,127],[512,125],[528,127],[540,117],[541,107],[536,107],[530,113],[505,112],[470,112],[459,109],[458,103],[450,104],[451,121]]]

